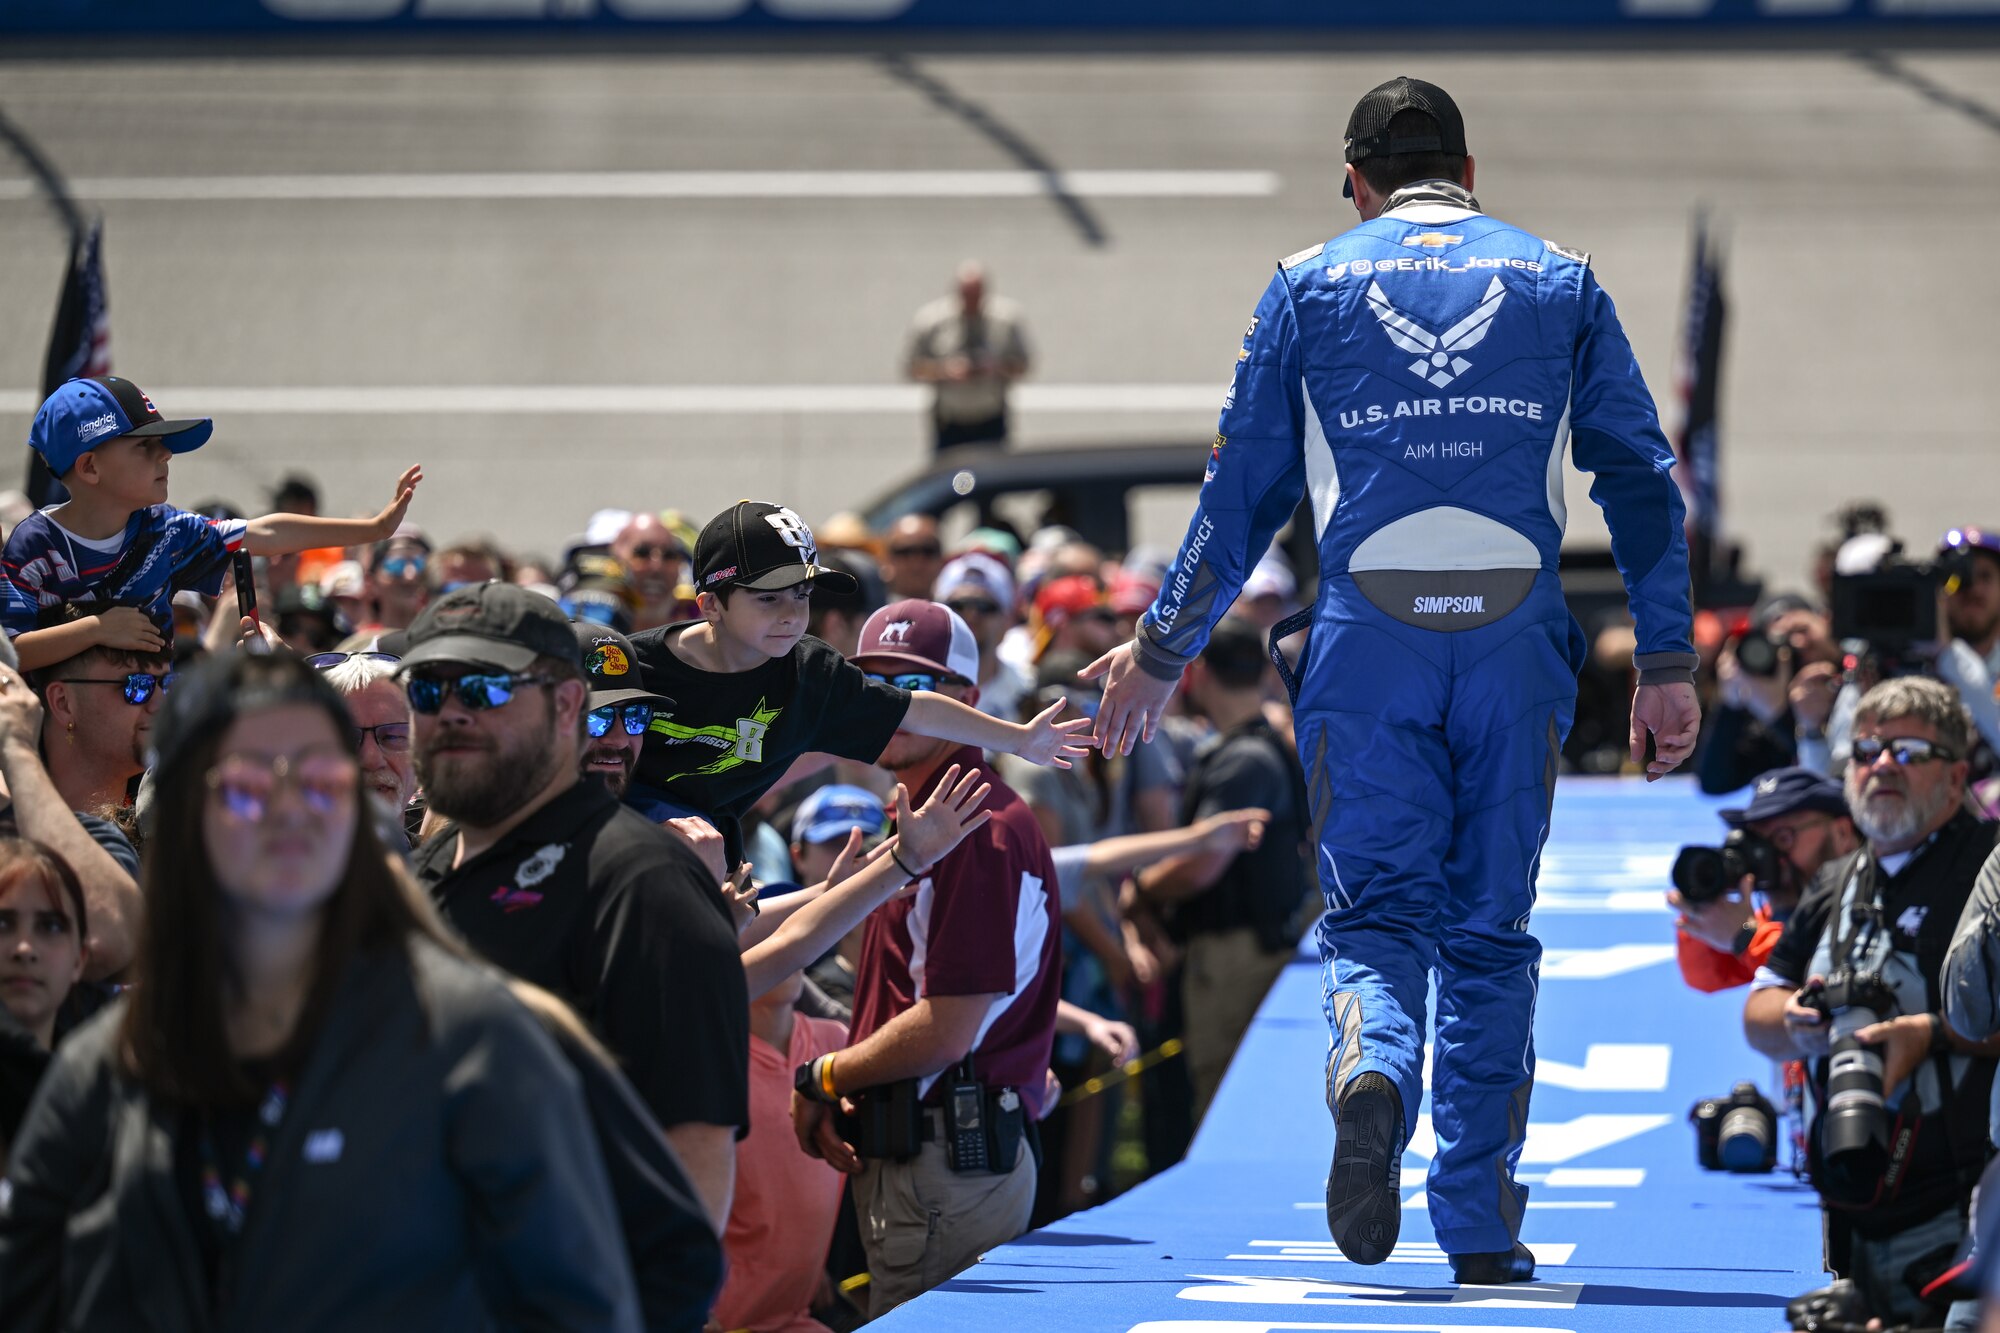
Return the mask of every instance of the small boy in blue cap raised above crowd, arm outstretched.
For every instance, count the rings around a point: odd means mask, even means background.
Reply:
[[[174,640],[174,592],[220,594],[238,550],[290,554],[382,540],[424,480],[420,466],[404,470],[396,498],[374,518],[218,522],[166,502],[168,460],[212,432],[208,418],[166,420],[138,384],[110,374],[70,380],[48,396],[28,444],[70,498],[22,518],[0,552],[0,628],[22,671],[100,646],[164,652]],[[64,602],[102,610],[40,628],[42,612]]]

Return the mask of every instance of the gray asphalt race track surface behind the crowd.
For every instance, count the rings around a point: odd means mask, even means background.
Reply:
[[[102,204],[116,368],[146,388],[894,386],[910,312],[976,254],[1026,306],[1036,384],[1172,390],[1156,410],[1024,408],[1024,446],[1202,448],[1214,408],[1190,386],[1220,400],[1272,262],[1352,222],[1340,128],[1398,72],[1454,90],[1492,212],[1594,252],[1670,416],[1690,214],[1726,224],[1724,486],[1758,566],[1800,582],[1854,496],[1918,540],[2000,522],[1990,48],[0,60],[0,110],[82,180],[1014,170],[1022,152],[1276,172],[1270,196],[1084,196],[1082,224],[1038,196]],[[4,194],[0,236],[0,440],[22,440],[62,240]],[[176,500],[262,508],[302,468],[356,510],[422,460],[414,516],[438,536],[550,550],[604,504],[764,494],[824,516],[928,450],[894,394],[860,412],[282,402],[314,394],[228,410],[176,462]],[[1572,534],[1592,540],[1586,492],[1572,476]]]

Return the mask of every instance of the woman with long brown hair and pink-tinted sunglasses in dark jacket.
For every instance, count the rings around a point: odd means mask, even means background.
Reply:
[[[0,1183],[0,1329],[626,1329],[576,1073],[390,867],[290,656],[156,727],[136,987],[60,1049]]]

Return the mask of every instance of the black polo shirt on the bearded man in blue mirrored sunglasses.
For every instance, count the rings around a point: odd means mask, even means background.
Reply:
[[[412,869],[472,949],[568,1001],[662,1125],[750,1125],[750,997],[696,855],[582,779],[456,871],[458,829]]]

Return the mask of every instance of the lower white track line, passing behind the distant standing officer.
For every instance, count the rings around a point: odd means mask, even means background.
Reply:
[[[1020,384],[1016,412],[1204,412],[1222,384]],[[922,414],[922,384],[326,384],[154,388],[174,412],[312,412],[346,416],[832,416]],[[34,412],[42,398],[0,390],[0,412]]]

